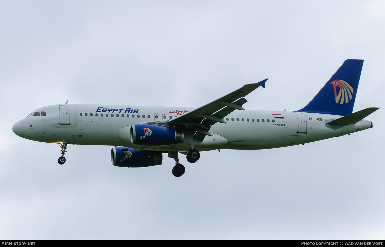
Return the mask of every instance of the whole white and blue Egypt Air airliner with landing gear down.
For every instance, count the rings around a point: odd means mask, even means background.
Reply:
[[[199,160],[200,151],[272,149],[372,128],[364,120],[379,108],[353,112],[363,60],[348,59],[315,97],[295,112],[244,110],[244,98],[267,79],[243,87],[198,108],[133,105],[49,105],[13,125],[25,139],[57,143],[64,164],[68,144],[113,145],[112,164],[149,167],[162,164],[162,153],[176,162],[172,174],[185,172],[178,153]],[[119,146],[119,147],[118,147]]]

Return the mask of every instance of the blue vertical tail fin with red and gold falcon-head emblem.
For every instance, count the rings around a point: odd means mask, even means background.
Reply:
[[[348,59],[326,82],[314,98],[296,112],[346,116],[353,112],[363,60]]]

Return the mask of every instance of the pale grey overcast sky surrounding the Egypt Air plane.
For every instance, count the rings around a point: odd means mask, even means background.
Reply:
[[[353,111],[383,107],[383,1],[0,1],[0,239],[384,239],[374,128],[305,146],[114,167],[109,146],[32,142],[12,125],[64,103],[198,107],[269,78],[246,109],[305,106],[364,59]]]

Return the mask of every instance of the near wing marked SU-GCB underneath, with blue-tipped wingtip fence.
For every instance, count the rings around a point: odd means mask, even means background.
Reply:
[[[212,125],[218,122],[226,124],[223,120],[224,117],[234,110],[244,110],[242,105],[246,103],[247,100],[243,97],[253,92],[259,86],[264,88],[266,80],[268,79],[258,83],[246,84],[206,105],[202,105],[179,117],[173,118],[169,120],[168,123],[184,125],[184,129],[194,131],[194,138],[202,142],[206,135],[211,136],[208,130],[210,130]]]

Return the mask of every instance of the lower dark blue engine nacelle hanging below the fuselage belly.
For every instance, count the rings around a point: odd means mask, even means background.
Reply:
[[[120,167],[149,167],[161,165],[162,152],[130,149],[127,147],[113,147],[111,149],[112,165]]]

